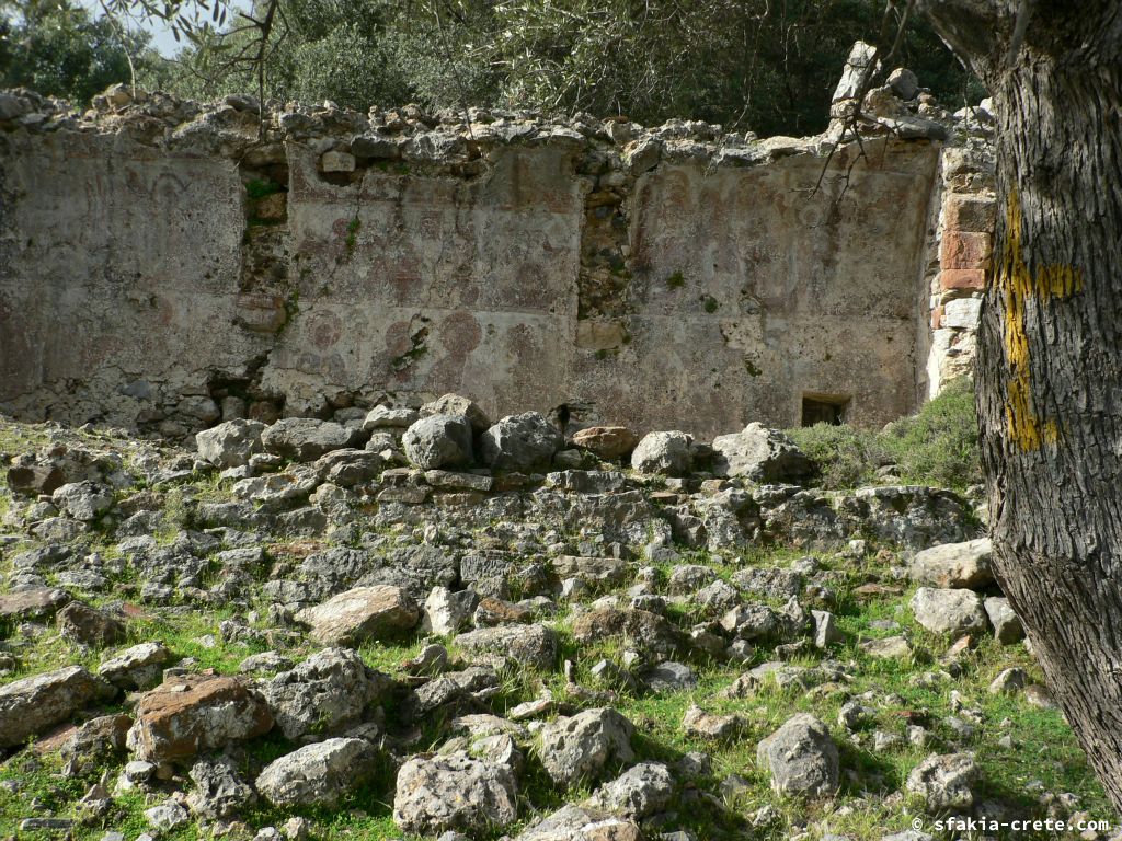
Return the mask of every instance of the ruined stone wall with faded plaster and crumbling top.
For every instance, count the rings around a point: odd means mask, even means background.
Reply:
[[[993,216],[991,118],[909,76],[859,141],[2,94],[0,410],[184,437],[456,391],[573,428],[883,424],[969,370]]]

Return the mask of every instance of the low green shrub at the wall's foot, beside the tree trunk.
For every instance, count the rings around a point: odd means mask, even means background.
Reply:
[[[816,424],[788,433],[818,465],[827,489],[872,483],[886,464],[919,484],[963,489],[982,481],[974,390],[966,378],[948,383],[913,417],[880,431]]]

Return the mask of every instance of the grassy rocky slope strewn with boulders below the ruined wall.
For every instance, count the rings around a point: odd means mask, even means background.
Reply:
[[[976,495],[819,491],[757,425],[565,438],[454,396],[197,452],[2,422],[0,452],[0,837],[1114,820]]]

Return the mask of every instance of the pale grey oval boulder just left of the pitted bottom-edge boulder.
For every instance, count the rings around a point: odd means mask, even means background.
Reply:
[[[265,766],[257,792],[274,806],[329,806],[362,782],[376,758],[364,739],[325,739]]]

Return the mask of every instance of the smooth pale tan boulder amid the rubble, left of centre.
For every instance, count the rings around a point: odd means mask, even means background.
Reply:
[[[357,586],[323,604],[304,608],[296,619],[312,627],[312,639],[328,646],[358,646],[368,639],[401,636],[421,613],[405,590],[393,584]]]

